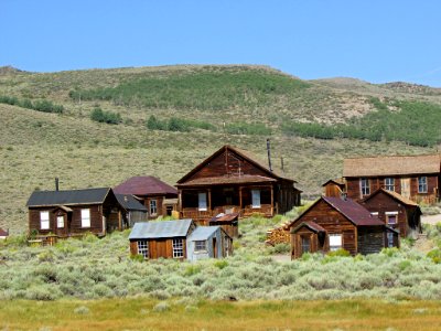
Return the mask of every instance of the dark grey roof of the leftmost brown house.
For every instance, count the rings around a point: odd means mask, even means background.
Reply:
[[[34,191],[31,194],[26,206],[101,204],[109,192],[111,192],[110,188],[68,191]]]

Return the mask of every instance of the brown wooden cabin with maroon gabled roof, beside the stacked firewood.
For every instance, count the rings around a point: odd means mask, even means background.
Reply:
[[[292,258],[338,248],[351,255],[369,254],[399,245],[398,232],[349,199],[322,196],[289,228]]]

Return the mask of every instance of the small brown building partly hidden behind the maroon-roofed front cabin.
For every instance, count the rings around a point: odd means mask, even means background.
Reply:
[[[397,192],[379,189],[365,197],[362,204],[385,224],[399,231],[401,237],[417,238],[421,233],[419,205]]]

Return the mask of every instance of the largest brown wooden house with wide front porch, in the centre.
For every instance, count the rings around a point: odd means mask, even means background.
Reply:
[[[300,202],[293,180],[276,174],[228,145],[180,179],[176,186],[181,216],[202,224],[220,213],[271,217]]]

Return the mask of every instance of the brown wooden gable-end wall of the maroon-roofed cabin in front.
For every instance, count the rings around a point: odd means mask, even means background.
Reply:
[[[290,228],[295,228],[303,222],[314,222],[322,226],[326,231],[326,235],[330,234],[342,234],[342,248],[351,253],[351,255],[357,254],[357,238],[356,238],[356,226],[348,221],[340,212],[331,207],[323,200],[318,202],[313,207],[308,210],[300,218],[291,224]],[[292,236],[292,235],[291,235]],[[293,241],[295,243],[295,238]],[[327,239],[325,241],[327,242]],[[324,252],[329,250],[329,244],[323,247]]]

